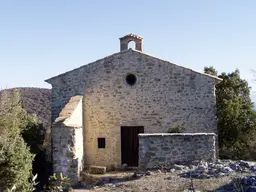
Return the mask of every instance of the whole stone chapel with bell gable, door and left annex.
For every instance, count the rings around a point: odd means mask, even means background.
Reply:
[[[128,49],[135,42],[135,50]],[[143,38],[120,38],[120,51],[46,82],[52,85],[54,172],[79,180],[91,165],[138,166],[139,133],[216,133],[221,79],[143,52]]]

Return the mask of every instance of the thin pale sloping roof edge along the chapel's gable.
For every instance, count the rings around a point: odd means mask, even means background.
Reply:
[[[186,70],[189,70],[189,71],[192,71],[192,72],[201,74],[201,75],[203,75],[203,76],[207,76],[207,77],[216,79],[217,81],[222,81],[221,78],[216,77],[216,76],[214,76],[214,75],[209,75],[209,74],[206,74],[206,73],[202,73],[202,72],[199,72],[199,71],[190,69],[190,68],[188,68],[188,67],[184,67],[184,66],[181,66],[181,65],[178,65],[178,64],[175,64],[175,63],[171,63],[171,62],[166,61],[166,60],[164,60],[164,59],[161,59],[161,58],[152,56],[152,55],[150,55],[150,54],[147,54],[147,53],[145,53],[145,52],[141,52],[141,51],[137,51],[137,50],[133,50],[133,49],[128,49],[128,50],[126,50],[126,51],[117,52],[117,53],[114,53],[114,54],[112,54],[112,55],[103,57],[102,59],[98,59],[98,60],[96,60],[96,61],[93,61],[93,62],[91,62],[91,63],[88,63],[88,64],[86,64],[86,65],[83,65],[83,66],[81,66],[81,67],[78,67],[78,68],[75,68],[75,69],[73,69],[73,70],[67,71],[67,72],[65,72],[65,73],[61,73],[61,74],[59,74],[59,75],[57,75],[57,76],[51,77],[51,78],[49,78],[49,79],[46,79],[45,82],[51,84],[51,80],[54,80],[54,79],[56,79],[56,78],[58,78],[58,77],[61,77],[61,76],[63,76],[63,75],[66,75],[66,74],[68,74],[68,73],[70,73],[70,72],[72,72],[72,71],[79,70],[79,69],[84,68],[84,67],[88,67],[89,65],[95,64],[97,61],[104,60],[104,59],[106,59],[106,58],[108,58],[108,57],[112,57],[112,56],[114,56],[114,55],[124,54],[125,52],[129,52],[129,51],[133,51],[133,52],[139,53],[139,54],[141,54],[141,55],[145,55],[145,56],[148,56],[148,57],[152,57],[152,58],[155,58],[155,59],[159,59],[159,60],[161,60],[161,61],[164,61],[164,62],[169,63],[170,65],[175,65],[175,66],[181,67],[181,68],[183,68],[183,69],[186,69]]]

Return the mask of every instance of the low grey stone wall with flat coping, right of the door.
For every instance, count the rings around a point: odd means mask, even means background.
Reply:
[[[139,134],[139,168],[215,160],[214,133]]]

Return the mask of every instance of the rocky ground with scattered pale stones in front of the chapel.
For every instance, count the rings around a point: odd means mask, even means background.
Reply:
[[[256,164],[246,161],[195,161],[190,166],[173,165],[146,172],[123,171],[105,175],[84,174],[74,192],[256,192]]]

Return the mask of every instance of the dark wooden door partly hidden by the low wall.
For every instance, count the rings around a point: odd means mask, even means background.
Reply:
[[[144,133],[142,126],[121,127],[121,153],[122,164],[138,166],[139,160],[139,138],[138,134]]]

